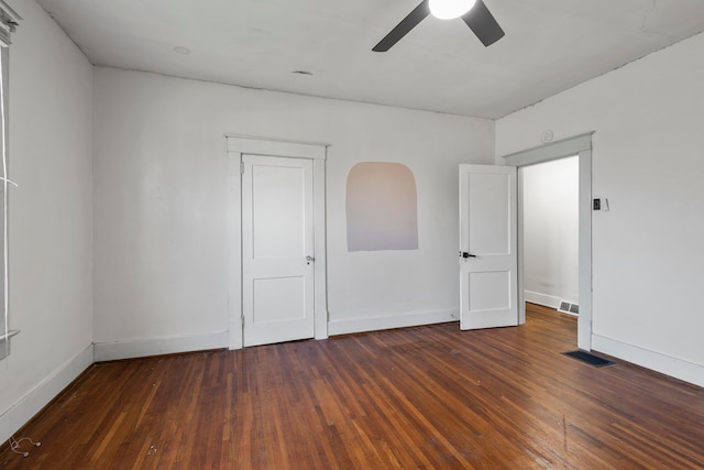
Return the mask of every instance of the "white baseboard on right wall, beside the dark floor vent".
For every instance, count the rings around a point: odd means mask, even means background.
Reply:
[[[704,386],[704,365],[671,358],[598,335],[592,335],[592,349],[656,372]]]

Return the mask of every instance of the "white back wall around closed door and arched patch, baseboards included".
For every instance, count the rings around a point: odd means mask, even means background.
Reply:
[[[458,164],[493,162],[492,121],[97,67],[98,357],[227,346],[228,250],[239,247],[227,239],[226,133],[331,144],[331,334],[457,315]],[[414,172],[418,250],[348,253],[345,182],[364,161]]]

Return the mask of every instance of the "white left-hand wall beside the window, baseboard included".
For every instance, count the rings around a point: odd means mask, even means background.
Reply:
[[[10,51],[10,327],[0,441],[92,362],[92,67],[34,1]]]

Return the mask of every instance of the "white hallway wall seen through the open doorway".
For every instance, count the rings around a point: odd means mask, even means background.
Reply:
[[[526,300],[558,307],[578,303],[579,159],[525,166],[524,291]]]

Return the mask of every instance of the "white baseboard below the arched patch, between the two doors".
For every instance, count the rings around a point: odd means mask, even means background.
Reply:
[[[458,321],[458,310],[440,310],[388,315],[384,317],[351,318],[346,320],[331,320],[328,325],[328,334],[348,335],[351,332],[376,331],[391,328],[415,327],[419,325],[442,324]]]

